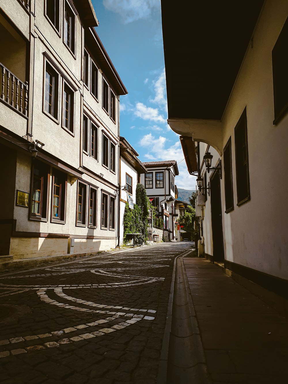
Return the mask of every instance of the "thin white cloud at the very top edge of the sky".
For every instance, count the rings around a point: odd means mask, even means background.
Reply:
[[[119,13],[125,24],[151,16],[160,8],[160,0],[103,0],[104,7]]]

